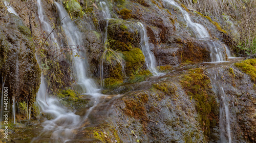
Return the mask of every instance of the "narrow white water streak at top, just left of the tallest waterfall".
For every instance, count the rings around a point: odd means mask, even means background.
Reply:
[[[57,43],[57,39],[55,38],[55,35],[53,33],[53,28],[52,26],[47,22],[46,17],[44,15],[44,11],[42,9],[42,5],[41,5],[41,0],[37,0],[37,6],[38,6],[38,18],[41,22],[42,28],[44,31],[46,31],[46,37],[49,35],[48,40],[52,42],[52,44],[54,45],[53,47],[55,47],[54,50],[57,51],[57,53],[59,53],[59,45]]]

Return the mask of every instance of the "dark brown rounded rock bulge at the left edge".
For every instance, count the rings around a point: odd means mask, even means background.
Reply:
[[[31,32],[19,17],[11,13],[0,17],[0,27],[1,78],[8,87],[9,98],[32,104],[41,71],[35,58]]]

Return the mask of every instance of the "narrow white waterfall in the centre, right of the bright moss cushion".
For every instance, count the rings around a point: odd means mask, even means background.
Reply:
[[[139,32],[141,36],[140,46],[141,46],[143,55],[145,56],[147,69],[149,69],[150,72],[153,73],[153,75],[159,75],[160,73],[156,69],[157,63],[156,63],[155,55],[150,50],[150,45],[148,44],[146,29],[142,23],[138,22],[138,25],[139,25]]]

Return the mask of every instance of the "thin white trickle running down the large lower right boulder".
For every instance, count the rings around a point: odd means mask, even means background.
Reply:
[[[230,130],[230,121],[229,121],[229,109],[228,109],[228,103],[226,99],[226,94],[223,90],[223,87],[221,87],[221,104],[220,104],[220,130],[221,130],[221,143],[231,143],[231,130]],[[226,129],[224,128],[226,127]],[[225,133],[227,133],[228,141],[225,137]]]

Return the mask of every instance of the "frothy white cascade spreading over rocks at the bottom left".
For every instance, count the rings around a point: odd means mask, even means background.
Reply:
[[[74,112],[62,107],[57,98],[47,95],[47,88],[44,76],[41,75],[41,84],[36,95],[36,103],[39,106],[40,112],[44,112],[52,116],[52,120],[47,120],[41,125],[44,130],[40,135],[52,131],[51,139],[54,142],[65,142],[73,138],[73,133],[80,125],[81,118],[75,115]],[[31,142],[38,140],[34,138]]]

